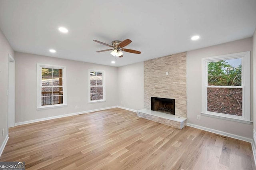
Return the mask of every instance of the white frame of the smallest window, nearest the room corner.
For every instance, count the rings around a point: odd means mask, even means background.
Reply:
[[[92,100],[91,101],[91,79],[90,73],[91,72],[100,72],[102,73],[102,86],[103,86],[103,99],[101,100]],[[105,102],[106,101],[106,79],[105,79],[105,71],[104,70],[95,70],[95,69],[88,69],[88,103],[98,103],[98,102]],[[92,86],[96,87],[96,86]]]

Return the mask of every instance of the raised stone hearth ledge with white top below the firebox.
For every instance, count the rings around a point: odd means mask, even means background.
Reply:
[[[187,118],[178,117],[176,115],[170,115],[158,111],[151,111],[148,109],[141,109],[137,111],[138,117],[148,119],[150,121],[155,121],[158,123],[162,123],[164,125],[168,125],[171,127],[175,127],[178,129],[182,129],[186,126]]]

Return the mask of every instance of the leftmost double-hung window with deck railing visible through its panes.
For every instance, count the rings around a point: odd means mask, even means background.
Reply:
[[[37,108],[66,105],[66,67],[37,64]]]

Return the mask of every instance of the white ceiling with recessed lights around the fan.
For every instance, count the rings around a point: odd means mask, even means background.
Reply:
[[[117,67],[248,38],[255,28],[256,0],[0,0],[14,51]],[[92,41],[127,38],[125,48],[142,53],[124,52],[115,64],[111,51],[95,52],[109,47]]]

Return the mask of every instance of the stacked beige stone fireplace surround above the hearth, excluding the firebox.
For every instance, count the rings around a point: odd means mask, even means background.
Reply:
[[[166,71],[169,75],[166,75]],[[175,99],[175,115],[186,116],[186,52],[144,61],[144,107],[151,97]]]

